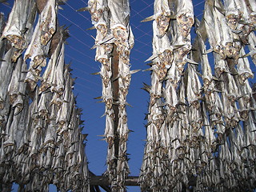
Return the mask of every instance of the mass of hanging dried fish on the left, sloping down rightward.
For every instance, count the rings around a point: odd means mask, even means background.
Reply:
[[[15,0],[0,21],[0,190],[88,191],[81,109],[64,63],[62,1]],[[37,23],[35,23],[37,22]]]

